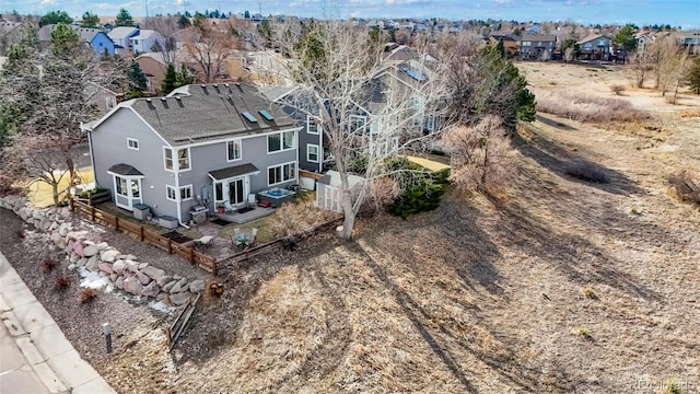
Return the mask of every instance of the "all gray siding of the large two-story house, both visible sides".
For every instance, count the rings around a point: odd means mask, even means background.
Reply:
[[[139,141],[139,150],[128,149],[127,138]],[[182,201],[182,221],[190,220],[189,210],[207,202],[213,211],[213,196],[209,192],[209,201],[203,201],[202,188],[211,189],[212,181],[209,172],[250,163],[259,170],[259,174],[250,176],[250,193],[258,193],[268,187],[268,167],[288,162],[298,162],[298,150],[267,153],[267,135],[243,138],[242,159],[233,162],[226,160],[226,142],[221,141],[206,146],[190,147],[190,171],[175,174],[165,171],[163,147],[166,143],[130,109],[119,109],[105,120],[96,131],[91,134],[93,147],[95,182],[101,187],[113,189],[113,176],[107,170],[119,163],[129,164],[143,174],[141,181],[142,201],[151,207],[154,216],[172,216],[177,218],[177,202],[167,199],[166,185],[183,187],[192,186],[192,199]],[[298,141],[299,143],[299,141]],[[182,148],[182,147],[178,147]],[[276,187],[287,187],[299,183],[289,181]],[[113,196],[114,196],[114,190]]]

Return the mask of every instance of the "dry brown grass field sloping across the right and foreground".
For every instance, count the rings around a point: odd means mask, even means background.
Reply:
[[[668,379],[698,392],[700,211],[666,176],[700,172],[700,97],[667,104],[618,67],[518,67],[538,96],[649,116],[540,113],[501,198],[451,190],[406,221],[364,219],[352,242],[322,234],[249,260],[172,355],[137,328],[97,370],[122,393],[658,393]]]

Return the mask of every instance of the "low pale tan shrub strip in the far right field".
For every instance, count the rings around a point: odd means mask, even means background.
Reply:
[[[537,111],[572,120],[606,123],[638,120],[649,116],[620,99],[546,93],[537,96]]]

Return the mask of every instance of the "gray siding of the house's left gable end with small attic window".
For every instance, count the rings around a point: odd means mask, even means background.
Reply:
[[[139,150],[127,148],[127,138],[139,141]],[[95,165],[95,182],[100,187],[114,188],[107,170],[119,163],[129,164],[143,174],[141,193],[143,204],[154,216],[175,216],[176,202],[166,198],[165,184],[172,173],[164,170],[163,140],[128,108],[118,109],[97,130],[91,134]],[[114,190],[113,196],[114,196]]]

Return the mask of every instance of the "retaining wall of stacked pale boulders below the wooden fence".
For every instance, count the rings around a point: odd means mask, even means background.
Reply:
[[[70,269],[84,267],[98,273],[127,293],[179,306],[205,289],[201,279],[167,275],[160,268],[139,262],[133,255],[121,254],[104,242],[89,240],[89,232],[75,229],[69,221],[70,217],[60,211],[31,208],[25,198],[16,196],[0,197],[0,208],[12,210],[38,231],[47,233],[50,242],[66,253]]]

